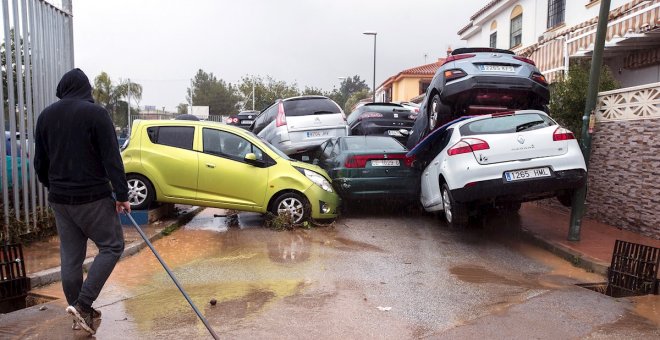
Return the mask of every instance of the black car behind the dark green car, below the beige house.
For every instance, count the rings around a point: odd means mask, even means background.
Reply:
[[[417,112],[395,103],[368,103],[346,119],[351,135],[390,136],[406,144]]]

